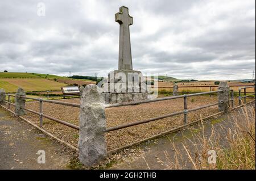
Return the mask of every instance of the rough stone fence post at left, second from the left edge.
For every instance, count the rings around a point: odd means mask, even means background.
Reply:
[[[19,87],[15,94],[15,113],[18,116],[26,114],[24,111],[26,99],[22,98],[22,96],[26,96],[26,93],[21,87]]]

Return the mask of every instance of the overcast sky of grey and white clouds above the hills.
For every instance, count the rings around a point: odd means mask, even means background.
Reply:
[[[42,2],[46,7],[43,15]],[[252,78],[255,1],[1,1],[0,71],[106,76],[129,7],[133,68],[180,79]]]

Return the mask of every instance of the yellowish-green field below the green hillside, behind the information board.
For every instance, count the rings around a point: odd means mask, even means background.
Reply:
[[[65,83],[50,81],[43,78],[0,78],[0,89],[6,92],[16,92],[18,87],[25,91],[60,90]]]

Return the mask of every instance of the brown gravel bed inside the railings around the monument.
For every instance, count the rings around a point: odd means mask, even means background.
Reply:
[[[64,102],[80,103],[79,99],[65,99]],[[216,103],[217,96],[194,96],[188,98],[188,109],[199,106],[204,106],[210,103]],[[237,105],[237,99],[236,99]],[[39,111],[38,102],[27,102],[26,107],[34,111]],[[14,108],[12,108],[14,110]],[[116,125],[130,123],[138,120],[144,120],[151,117],[161,116],[172,112],[183,110],[183,99],[164,100],[160,102],[141,104],[137,106],[125,106],[117,108],[108,108],[106,112],[107,127],[114,127]],[[188,122],[195,121],[201,117],[206,117],[218,112],[218,106],[205,108],[192,113],[188,113]],[[52,103],[43,103],[43,113],[57,119],[67,121],[75,125],[79,125],[79,108],[62,106]],[[24,115],[26,119],[39,125],[39,116],[34,113],[27,112]],[[172,128],[183,124],[183,115],[168,117],[166,119],[152,121],[151,123],[136,125],[129,128],[120,129],[106,133],[107,150],[112,150],[125,146],[135,141],[142,140],[155,134],[168,131]],[[43,128],[55,136],[61,138],[77,146],[79,131],[69,128],[65,125],[56,123],[55,121],[44,118]]]

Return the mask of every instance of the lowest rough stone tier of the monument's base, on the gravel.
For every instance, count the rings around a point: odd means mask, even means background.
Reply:
[[[114,104],[114,103],[122,103],[122,102],[130,102],[130,101],[138,101],[148,99],[147,92],[140,93],[109,93],[103,92],[102,95],[105,98],[106,104]]]

